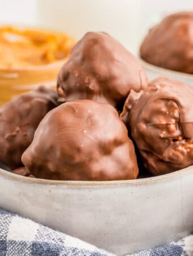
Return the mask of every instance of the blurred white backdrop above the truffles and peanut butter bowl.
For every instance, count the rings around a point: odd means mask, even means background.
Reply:
[[[0,0],[0,24],[64,31],[79,39],[106,31],[137,55],[153,24],[175,11],[193,10],[192,0]]]

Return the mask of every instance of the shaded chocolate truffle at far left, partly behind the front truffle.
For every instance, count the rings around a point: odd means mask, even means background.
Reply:
[[[57,106],[57,93],[40,86],[0,108],[0,161],[11,170],[22,166],[21,156],[31,144],[44,115]]]

